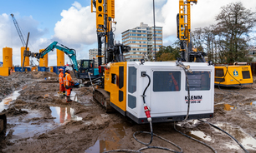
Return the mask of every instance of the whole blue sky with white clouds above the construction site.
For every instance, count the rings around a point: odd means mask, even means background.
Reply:
[[[156,26],[163,27],[163,45],[172,45],[177,40],[179,0],[155,0]],[[221,7],[235,0],[198,0],[192,6],[192,30],[207,27],[215,22]],[[243,6],[256,11],[255,0],[243,0]],[[30,32],[30,51],[48,47],[57,41],[74,48],[78,59],[88,59],[89,49],[97,48],[95,13],[90,12],[90,0],[6,0],[0,6],[0,62],[3,47],[13,48],[13,64],[20,65],[22,42],[10,16],[14,14],[23,37]],[[141,22],[153,26],[152,0],[115,0],[115,40],[121,42],[121,32],[140,26]],[[66,57],[66,62],[69,58]],[[36,62],[38,64],[38,62]],[[49,52],[49,66],[55,66],[56,52]]]

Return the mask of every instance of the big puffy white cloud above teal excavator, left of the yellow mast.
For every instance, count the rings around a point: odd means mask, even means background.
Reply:
[[[55,24],[54,37],[65,44],[92,44],[96,42],[95,13],[90,6],[81,7],[74,2],[69,10],[60,14],[63,18]]]

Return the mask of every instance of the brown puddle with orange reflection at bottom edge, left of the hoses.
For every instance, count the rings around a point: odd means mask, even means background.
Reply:
[[[108,140],[104,138],[96,141],[95,145],[88,148],[85,153],[102,153],[119,149],[121,146],[120,140],[126,135],[125,126],[123,124],[115,124],[107,129],[104,135],[106,135],[105,138]]]

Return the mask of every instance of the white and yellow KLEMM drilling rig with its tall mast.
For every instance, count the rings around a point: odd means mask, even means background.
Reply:
[[[123,53],[129,52],[130,47],[115,44],[113,37],[115,0],[91,0],[91,12],[96,14],[100,66],[94,98],[107,112],[119,111],[138,124],[213,117],[212,65],[190,61],[145,62],[143,59],[125,62]],[[105,65],[101,63],[102,45],[105,46]],[[190,53],[193,54],[197,58],[197,52]]]

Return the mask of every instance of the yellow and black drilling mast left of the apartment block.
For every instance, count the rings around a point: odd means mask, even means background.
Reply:
[[[96,12],[99,66],[102,64],[101,57],[103,57],[103,43],[105,47],[105,64],[109,62],[124,62],[123,52],[129,52],[131,47],[114,43],[114,31],[112,25],[116,24],[114,21],[115,0],[91,0],[91,12]]]

